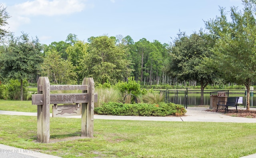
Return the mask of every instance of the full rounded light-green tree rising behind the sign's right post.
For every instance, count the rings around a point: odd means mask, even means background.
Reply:
[[[90,38],[88,52],[82,59],[84,76],[94,77],[96,83],[106,81],[117,83],[124,77],[130,77],[130,61],[126,59],[126,49],[116,46],[115,39],[108,36]]]

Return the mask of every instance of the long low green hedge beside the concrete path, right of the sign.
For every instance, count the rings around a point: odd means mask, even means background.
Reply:
[[[186,109],[182,105],[174,103],[159,104],[123,104],[104,103],[101,107],[96,107],[94,112],[99,115],[119,115],[119,116],[182,116]]]

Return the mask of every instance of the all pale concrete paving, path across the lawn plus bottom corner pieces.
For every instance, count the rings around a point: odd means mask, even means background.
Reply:
[[[242,117],[230,117],[230,116],[224,115],[222,113],[208,112],[208,111],[206,111],[206,109],[203,109],[203,108],[190,108],[190,109],[186,109],[186,110],[187,110],[187,113],[186,113],[186,116],[184,116],[184,117],[140,117],[140,116],[94,115],[94,119],[256,123],[256,119],[242,118]],[[37,116],[37,113],[0,111],[0,115]],[[74,117],[68,117],[68,118],[78,118],[79,119],[79,118],[81,118],[81,116],[74,116]],[[0,157],[1,158],[59,158],[58,156],[42,154],[42,153],[40,153],[40,151],[24,150],[24,149],[20,149],[20,148],[14,148],[11,146],[5,146],[2,144],[0,144]],[[256,154],[244,156],[242,158],[256,158]]]

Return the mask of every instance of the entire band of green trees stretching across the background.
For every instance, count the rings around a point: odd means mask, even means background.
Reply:
[[[22,84],[41,75],[56,84],[79,84],[83,77],[115,84],[134,77],[142,85],[200,85],[202,95],[209,84],[232,82],[245,85],[250,99],[250,85],[256,82],[256,2],[242,3],[243,10],[220,7],[220,16],[204,21],[204,29],[189,36],[179,31],[170,43],[134,42],[122,35],[81,41],[69,34],[65,41],[45,45],[28,34],[15,37],[0,30],[0,80],[16,78]],[[9,16],[6,8],[0,10],[4,26]]]

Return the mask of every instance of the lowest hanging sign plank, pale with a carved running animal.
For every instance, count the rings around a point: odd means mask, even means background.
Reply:
[[[79,104],[52,106],[52,117],[69,117],[79,115],[81,115],[81,106]]]

